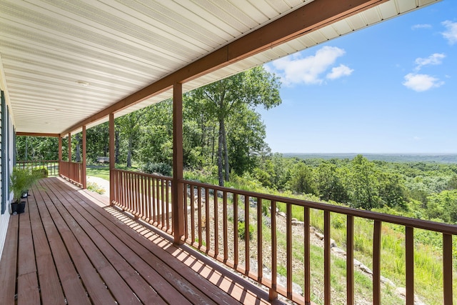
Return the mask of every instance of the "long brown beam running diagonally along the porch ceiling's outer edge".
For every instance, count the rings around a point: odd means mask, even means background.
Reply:
[[[236,41],[221,47],[221,49],[217,49],[211,54],[184,66],[184,68],[177,70],[169,76],[165,76],[163,79],[159,79],[159,81],[136,91],[134,94],[121,99],[121,101],[116,102],[99,113],[71,126],[62,132],[62,134],[67,134],[81,128],[81,126],[102,119],[111,113],[116,113],[126,107],[149,99],[154,95],[161,94],[171,89],[173,84],[191,81],[199,76],[321,29],[323,26],[333,24],[336,21],[370,9],[386,1],[388,0],[314,0],[266,24],[266,26],[262,26],[260,29],[256,29]]]

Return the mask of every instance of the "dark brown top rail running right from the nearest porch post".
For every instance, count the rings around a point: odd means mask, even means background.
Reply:
[[[383,221],[391,224],[399,224],[402,226],[409,226],[411,228],[417,229],[426,229],[430,231],[437,231],[446,234],[457,235],[457,226],[453,224],[442,224],[435,221],[426,221],[422,219],[413,219],[405,216],[396,216],[383,214],[373,211],[365,211],[360,209],[348,208],[346,206],[335,206],[333,204],[324,204],[321,202],[307,201],[301,199],[293,199],[282,196],[275,196],[271,194],[261,194],[253,191],[243,191],[240,189],[231,189],[223,186],[215,186],[212,184],[204,184],[197,181],[182,180],[185,184],[191,184],[193,186],[201,186],[209,189],[214,189],[215,191],[226,191],[229,193],[235,193],[243,196],[250,196],[253,198],[262,198],[270,201],[282,202],[286,204],[294,204],[296,206],[304,206],[311,209],[319,209],[322,211],[331,211],[338,214],[346,214],[350,216],[361,217],[365,219],[371,219],[374,221]]]

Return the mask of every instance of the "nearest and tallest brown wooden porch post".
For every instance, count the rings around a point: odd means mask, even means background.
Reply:
[[[184,190],[183,190],[183,87],[173,85],[173,231],[174,243],[183,244]]]

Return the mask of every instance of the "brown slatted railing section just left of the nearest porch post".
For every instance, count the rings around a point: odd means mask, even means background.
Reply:
[[[111,170],[114,202],[136,218],[173,233],[171,178],[120,169]]]

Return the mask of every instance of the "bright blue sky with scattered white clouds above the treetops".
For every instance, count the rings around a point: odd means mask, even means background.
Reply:
[[[261,113],[273,152],[457,153],[457,1],[266,64],[282,104]]]

